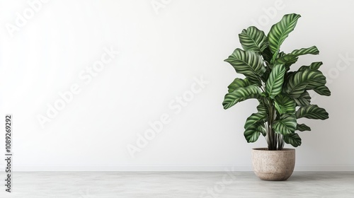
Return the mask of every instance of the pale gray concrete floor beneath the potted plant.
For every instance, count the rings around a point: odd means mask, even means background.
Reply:
[[[295,172],[285,182],[251,172],[17,172],[11,193],[1,186],[1,198],[353,198],[354,172]]]

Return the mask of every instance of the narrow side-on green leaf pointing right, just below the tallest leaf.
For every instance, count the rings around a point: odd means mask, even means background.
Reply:
[[[294,64],[297,61],[297,57],[304,54],[319,54],[319,50],[316,46],[294,50],[290,54],[285,54],[284,56],[275,59],[275,64]]]

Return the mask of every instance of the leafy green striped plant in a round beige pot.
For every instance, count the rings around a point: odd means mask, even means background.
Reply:
[[[294,30],[299,14],[291,13],[270,28],[268,35],[251,26],[239,34],[244,50],[237,48],[224,60],[236,73],[246,78],[235,78],[228,86],[222,105],[224,109],[241,101],[258,100],[257,112],[247,118],[244,136],[254,142],[262,134],[268,148],[253,148],[253,170],[262,180],[287,180],[295,167],[295,149],[284,148],[301,145],[296,131],[310,131],[306,124],[297,123],[299,118],[326,120],[328,112],[311,104],[309,91],[319,95],[331,95],[326,87],[326,77],[319,71],[322,62],[300,66],[292,71],[290,66],[300,55],[319,54],[316,46],[280,51],[280,45]]]

